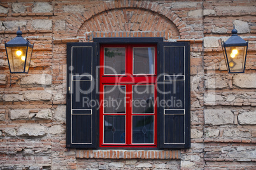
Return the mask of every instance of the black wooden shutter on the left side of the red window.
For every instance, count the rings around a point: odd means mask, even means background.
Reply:
[[[96,43],[67,44],[67,147],[96,148]]]

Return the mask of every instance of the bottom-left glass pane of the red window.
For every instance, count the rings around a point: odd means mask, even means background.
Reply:
[[[104,143],[125,143],[125,115],[104,115]]]

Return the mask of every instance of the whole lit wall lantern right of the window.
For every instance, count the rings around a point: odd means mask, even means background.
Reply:
[[[228,73],[244,73],[248,49],[246,42],[238,36],[238,30],[232,29],[232,36],[226,42],[222,42],[225,63]]]

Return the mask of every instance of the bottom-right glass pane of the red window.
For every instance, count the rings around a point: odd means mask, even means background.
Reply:
[[[132,143],[153,143],[153,115],[132,116]]]

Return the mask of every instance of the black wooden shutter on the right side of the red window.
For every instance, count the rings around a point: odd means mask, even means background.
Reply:
[[[159,42],[159,148],[190,147],[190,44]],[[162,105],[161,105],[162,103]]]

